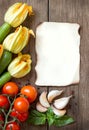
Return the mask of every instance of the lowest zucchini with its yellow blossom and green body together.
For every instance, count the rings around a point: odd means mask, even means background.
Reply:
[[[8,71],[0,77],[0,87],[8,82],[12,77],[21,78],[31,70],[31,56],[29,54],[19,54],[8,66]]]

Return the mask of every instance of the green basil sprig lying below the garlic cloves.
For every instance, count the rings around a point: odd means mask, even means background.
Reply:
[[[59,117],[55,115],[51,108],[45,113],[38,112],[37,110],[31,110],[28,122],[33,125],[44,125],[48,123],[49,126],[54,125],[57,127],[62,127],[74,122],[74,119],[71,116],[64,115]]]

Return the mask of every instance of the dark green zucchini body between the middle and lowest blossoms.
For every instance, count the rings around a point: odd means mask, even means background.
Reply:
[[[0,75],[7,68],[11,60],[12,60],[12,53],[7,50],[4,50],[3,55],[0,59]]]

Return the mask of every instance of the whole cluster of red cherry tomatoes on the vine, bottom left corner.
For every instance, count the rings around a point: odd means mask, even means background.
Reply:
[[[35,87],[23,86],[21,90],[14,82],[7,82],[0,94],[0,128],[20,130],[20,122],[27,120],[29,108],[37,98]]]

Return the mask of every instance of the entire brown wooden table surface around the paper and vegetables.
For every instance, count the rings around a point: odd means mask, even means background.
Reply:
[[[21,124],[21,130],[89,130],[89,0],[19,0],[33,6],[35,15],[28,17],[23,25],[32,28],[34,31],[36,26],[43,21],[56,22],[76,22],[81,26],[81,65],[80,65],[80,83],[78,85],[70,85],[67,87],[38,87],[38,91],[51,89],[65,90],[65,95],[71,92],[74,98],[71,100],[68,114],[72,115],[75,123],[66,127],[48,127],[32,126],[27,123]],[[18,0],[0,0],[0,25],[3,23],[4,13],[10,5],[18,2]],[[35,39],[31,38],[30,44],[24,49],[24,53],[30,53],[32,56],[32,71],[25,78],[16,81],[19,86],[32,84],[35,86]]]

